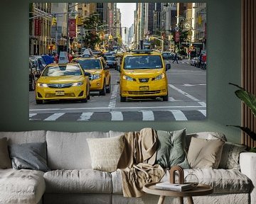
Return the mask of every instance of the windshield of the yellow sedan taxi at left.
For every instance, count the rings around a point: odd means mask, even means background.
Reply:
[[[82,70],[79,65],[75,64],[64,64],[64,65],[53,65],[48,66],[44,69],[42,77],[60,77],[60,76],[80,76],[82,75]]]

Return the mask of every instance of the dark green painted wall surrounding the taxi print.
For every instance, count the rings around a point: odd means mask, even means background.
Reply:
[[[225,125],[240,125],[241,120],[240,101],[235,98],[235,88],[228,85],[228,82],[240,84],[241,78],[241,2],[240,0],[201,2],[206,2],[208,7],[207,120],[170,123],[53,123],[28,121],[29,1],[1,1],[0,131],[59,130],[78,132],[129,131],[140,130],[144,127],[156,130],[187,128],[188,132],[223,132],[230,142],[239,143],[240,131],[225,127]]]

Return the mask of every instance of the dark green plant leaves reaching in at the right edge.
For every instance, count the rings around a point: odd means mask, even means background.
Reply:
[[[235,95],[238,96],[238,98],[240,98],[240,100],[242,100],[245,103],[245,105],[250,108],[250,110],[252,111],[252,114],[255,115],[256,117],[256,96],[249,93],[248,91],[246,91],[241,86],[238,86],[237,84],[232,84],[232,83],[229,83],[229,84],[239,88],[237,91],[235,91]],[[252,140],[256,140],[256,132],[253,132],[252,130],[250,130],[250,128],[242,127],[239,125],[228,125],[228,126],[240,128],[243,132],[249,135],[252,138]],[[256,147],[252,147],[250,149],[250,152],[256,152]]]

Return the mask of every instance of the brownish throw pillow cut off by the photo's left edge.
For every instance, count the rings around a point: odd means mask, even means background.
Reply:
[[[0,169],[11,168],[11,159],[9,157],[7,138],[0,139]]]

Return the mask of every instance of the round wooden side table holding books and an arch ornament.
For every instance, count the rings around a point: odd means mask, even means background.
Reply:
[[[166,196],[178,197],[181,204],[183,204],[183,197],[187,197],[188,203],[193,204],[192,196],[206,196],[208,194],[213,193],[213,188],[205,184],[198,184],[198,186],[188,191],[169,191],[169,190],[158,189],[156,188],[155,184],[156,183],[146,183],[143,186],[143,191],[149,194],[160,196],[158,204],[163,204],[164,198]]]

